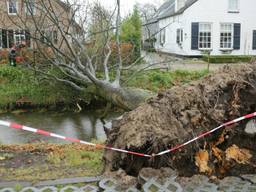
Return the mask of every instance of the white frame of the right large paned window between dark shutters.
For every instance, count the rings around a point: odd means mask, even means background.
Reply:
[[[230,31],[223,29],[223,25],[230,25]],[[229,42],[223,42],[222,43],[222,33],[231,33],[230,36],[230,47],[225,46]],[[228,38],[228,35],[226,35],[226,38]],[[233,49],[233,38],[234,38],[234,23],[221,23],[220,24],[220,50],[232,50]]]

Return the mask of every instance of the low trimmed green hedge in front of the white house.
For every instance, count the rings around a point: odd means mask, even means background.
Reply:
[[[253,56],[233,56],[233,55],[220,55],[210,56],[210,63],[239,63],[239,62],[250,62]],[[203,60],[208,62],[208,56],[203,56]]]

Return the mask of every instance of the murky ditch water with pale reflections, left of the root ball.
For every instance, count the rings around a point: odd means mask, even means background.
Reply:
[[[120,114],[110,113],[107,122],[117,118]],[[93,139],[105,140],[106,135],[100,114],[95,111],[83,113],[22,113],[0,114],[0,120],[16,122],[29,127],[43,129],[63,136],[78,138],[85,141]],[[25,143],[68,143],[66,141],[45,137],[22,130],[15,130],[0,125],[0,144]]]

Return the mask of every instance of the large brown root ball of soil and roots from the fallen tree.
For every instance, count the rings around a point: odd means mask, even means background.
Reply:
[[[256,64],[237,68],[225,66],[222,70],[199,81],[159,93],[134,111],[113,122],[107,144],[147,154],[156,154],[194,136],[208,131],[223,122],[256,111]],[[198,171],[194,155],[200,149],[210,150],[221,136],[224,140],[217,145],[220,150],[236,144],[251,151],[250,165],[232,166],[227,174],[256,172],[256,137],[244,132],[247,121],[235,125],[225,133],[219,131],[201,139],[175,153],[154,159],[105,151],[106,171],[124,169],[128,174],[138,175],[143,167],[171,167],[181,175],[189,176]],[[216,160],[210,152],[212,164]],[[218,163],[214,165],[219,166]],[[236,170],[237,167],[237,171]],[[233,172],[232,172],[233,171]],[[217,168],[213,172],[218,172]],[[222,173],[223,174],[223,173]]]

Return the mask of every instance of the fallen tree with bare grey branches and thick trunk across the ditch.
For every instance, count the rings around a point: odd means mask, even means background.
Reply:
[[[90,92],[87,88],[93,86],[91,95],[125,110],[136,108],[152,96],[147,90],[122,85],[120,0],[116,0],[113,12],[97,2],[24,0],[17,17],[9,16],[4,8],[0,13],[3,26],[11,23],[19,29],[8,34],[22,37],[10,40],[8,46],[31,47],[33,50],[24,49],[23,64],[44,79],[61,82],[81,93]],[[137,59],[131,66],[141,60]]]

